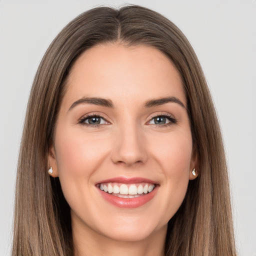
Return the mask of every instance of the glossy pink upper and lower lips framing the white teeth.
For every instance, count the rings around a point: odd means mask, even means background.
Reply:
[[[159,185],[157,185],[153,180],[140,178],[140,177],[134,177],[134,178],[115,177],[115,178],[102,180],[97,184],[108,183],[108,182],[125,183],[125,184],[147,182],[147,183],[152,183],[156,185],[155,188],[150,193],[141,195],[139,197],[134,197],[134,198],[121,198],[121,197],[106,193],[97,187],[99,193],[102,195],[102,197],[106,201],[120,208],[136,208],[136,207],[142,206],[143,204],[147,203],[155,196],[159,188]]]

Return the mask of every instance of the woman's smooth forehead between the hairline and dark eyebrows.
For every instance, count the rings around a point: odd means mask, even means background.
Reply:
[[[113,101],[177,96],[185,104],[180,75],[170,59],[145,45],[98,44],[84,51],[67,78],[65,97],[106,97]]]

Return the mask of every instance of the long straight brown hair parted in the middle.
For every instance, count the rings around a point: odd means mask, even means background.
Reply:
[[[218,120],[199,61],[183,33],[150,9],[97,7],[67,24],[48,47],[27,105],[17,168],[12,255],[73,255],[70,209],[58,178],[47,174],[48,147],[75,59],[89,47],[119,41],[166,54],[187,99],[199,176],[169,220],[166,255],[236,255],[228,177]]]

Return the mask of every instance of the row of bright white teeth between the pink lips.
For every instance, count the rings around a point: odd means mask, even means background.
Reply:
[[[109,194],[117,195],[122,198],[134,198],[141,194],[150,193],[155,185],[150,183],[140,184],[120,184],[120,183],[101,183],[99,188]]]

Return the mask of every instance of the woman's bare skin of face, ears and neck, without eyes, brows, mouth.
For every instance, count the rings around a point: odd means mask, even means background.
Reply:
[[[113,107],[83,102],[70,108],[83,97],[108,99]],[[165,97],[184,106],[144,106]],[[97,126],[79,123],[86,114],[103,119]],[[155,123],[163,114],[176,122]],[[68,76],[49,163],[71,208],[76,255],[163,255],[167,222],[196,167],[185,94],[171,61],[144,45],[99,44],[83,52]],[[158,190],[142,206],[117,207],[95,186],[116,176],[148,178]]]

